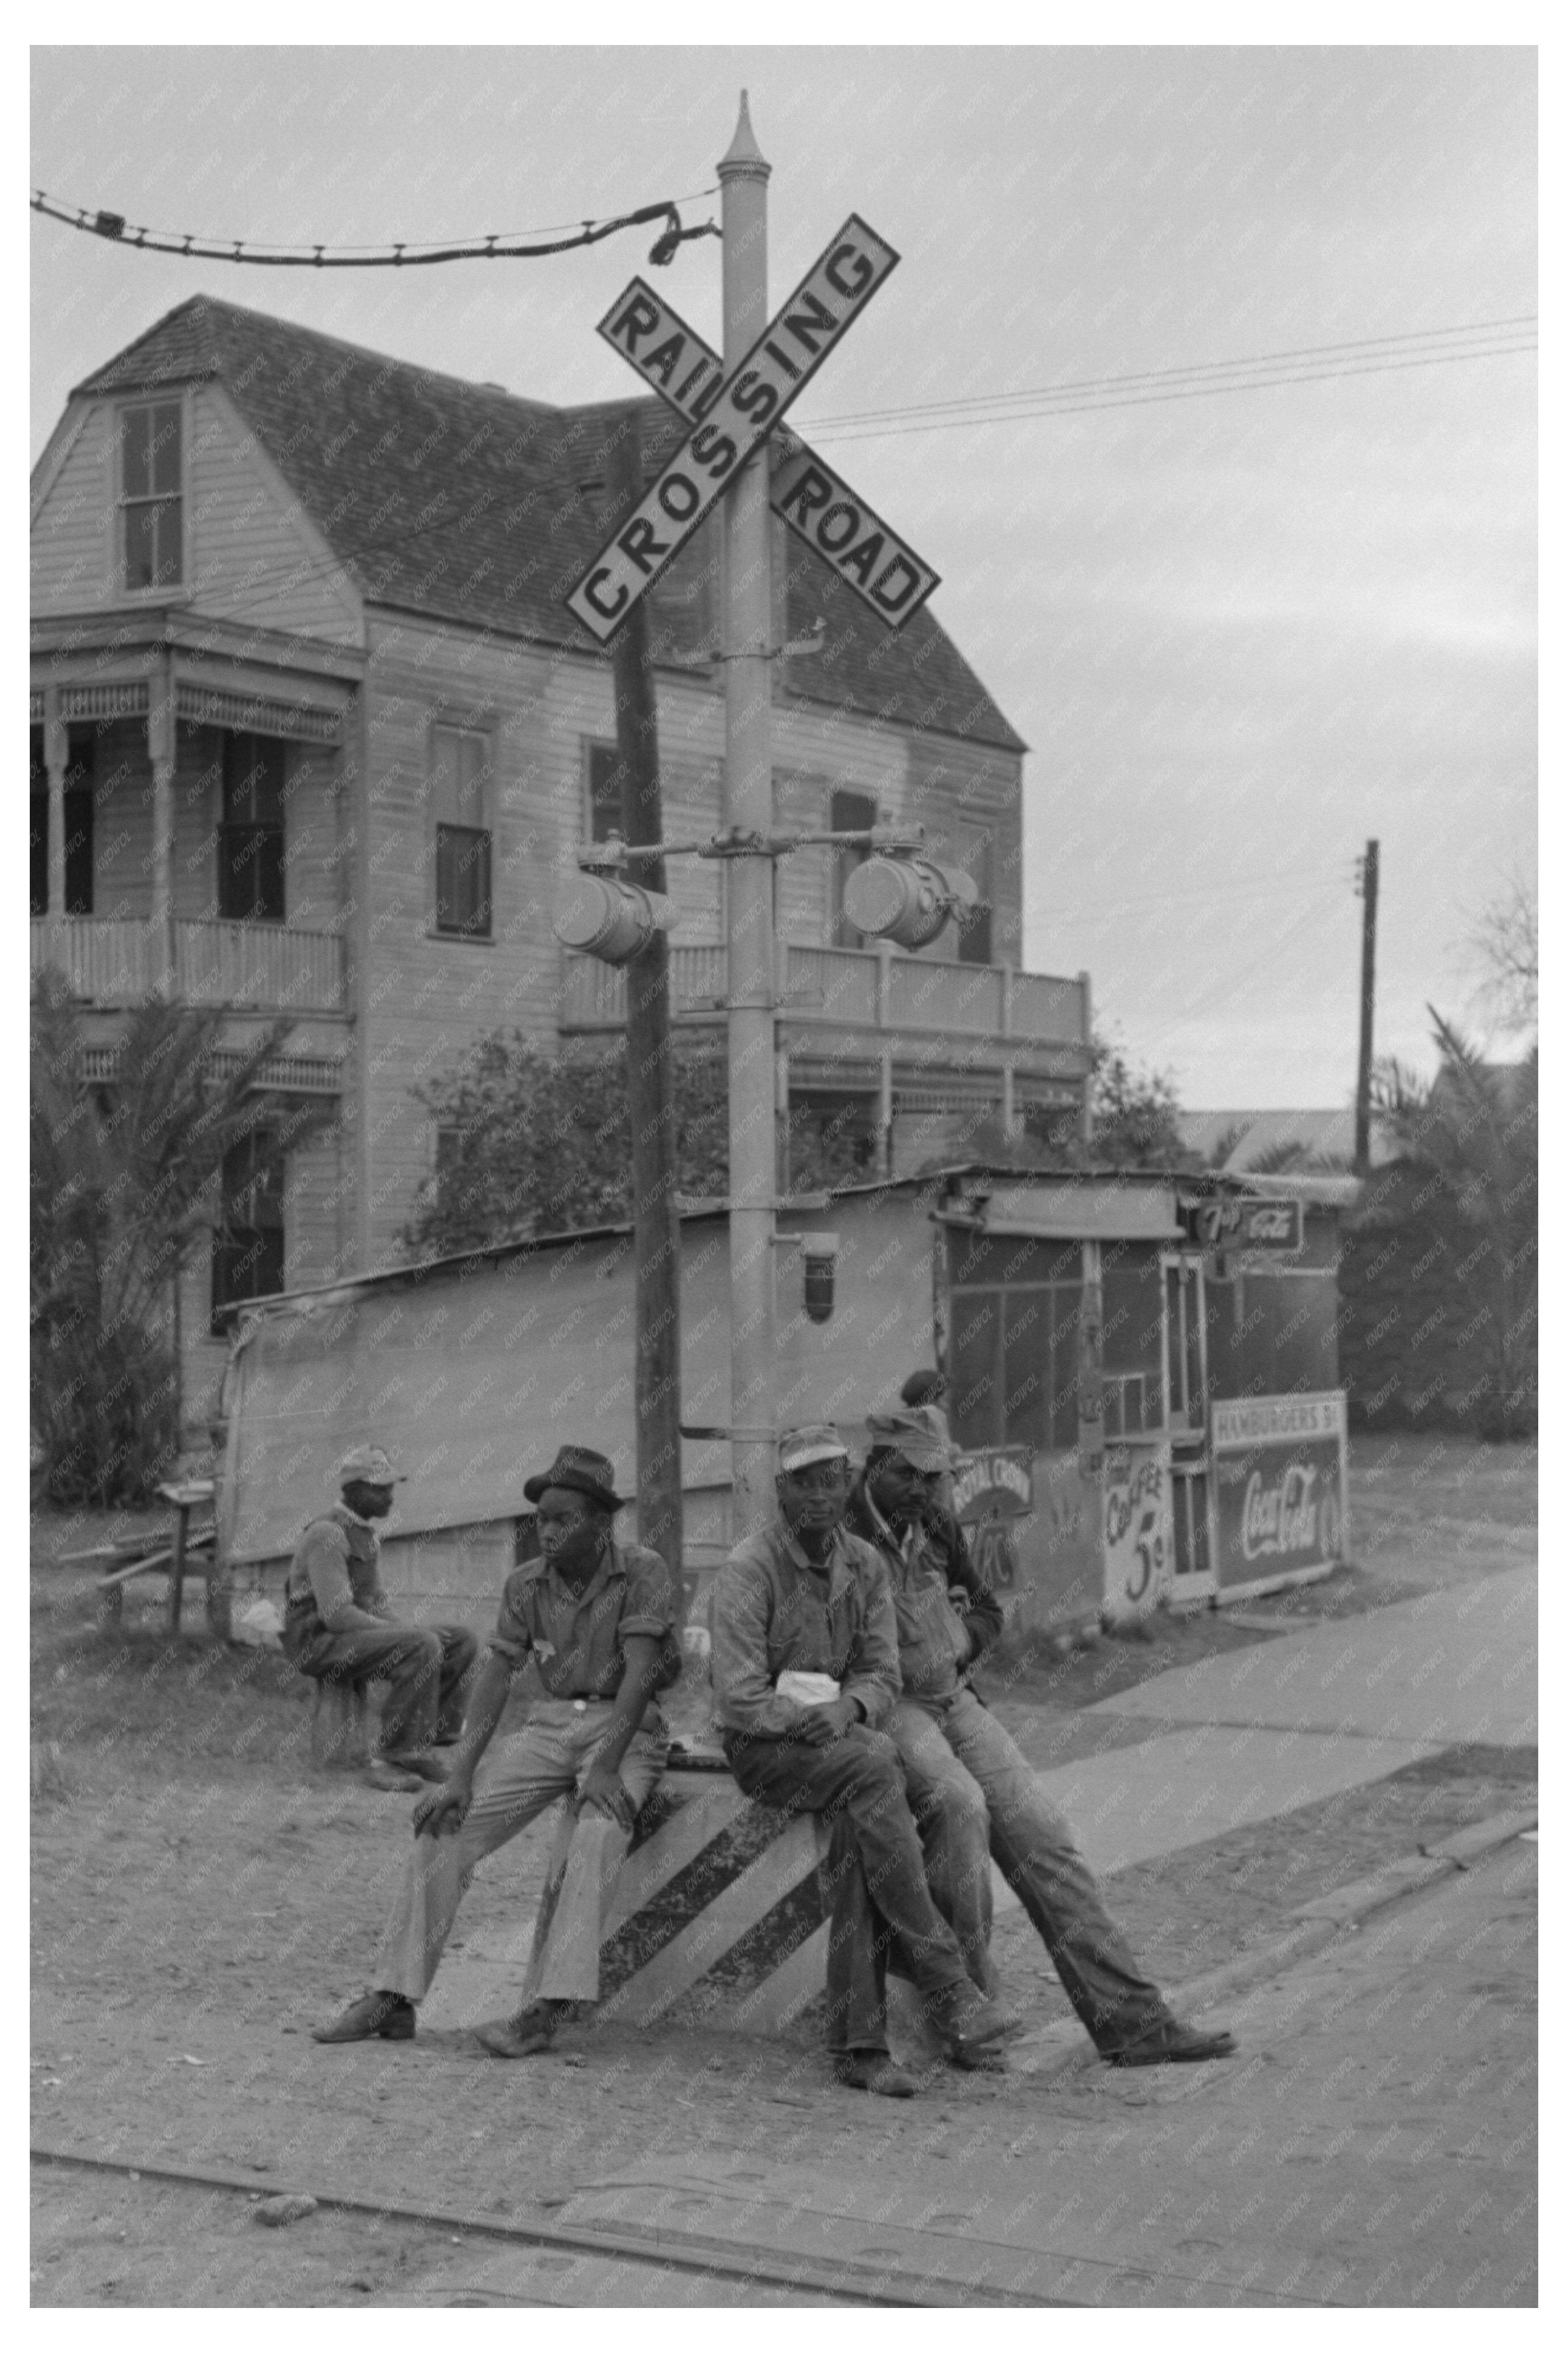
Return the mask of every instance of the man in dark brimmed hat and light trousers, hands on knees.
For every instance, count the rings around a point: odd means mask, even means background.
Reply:
[[[480,2028],[501,2059],[548,2047],[574,2002],[599,1998],[599,1922],[632,1838],[632,1821],[665,1765],[656,1694],[682,1671],[677,1581],[642,1544],[616,1544],[621,1511],[614,1464],[590,1447],[562,1447],[524,1480],[538,1506],[541,1558],[512,1569],[480,1666],[468,1722],[447,1786],[414,1807],[414,1847],[393,1899],[371,1991],[317,2042],[414,2035],[414,2005],[430,1991],[463,1889],[482,1857],[515,1838],[555,1798],[576,1831],[543,1948],[512,2019]],[[545,1699],[475,1793],[512,1675],[534,1659]]]

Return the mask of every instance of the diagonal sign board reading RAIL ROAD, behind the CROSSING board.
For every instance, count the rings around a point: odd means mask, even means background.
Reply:
[[[703,421],[724,384],[724,365],[646,278],[632,278],[599,320],[599,334],[677,416],[689,426]],[[940,586],[940,572],[788,426],[773,433],[773,513],[832,565],[879,621],[903,628]]]

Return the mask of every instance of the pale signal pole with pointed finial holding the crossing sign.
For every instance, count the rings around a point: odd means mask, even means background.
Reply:
[[[769,174],[741,92],[719,165],[724,372],[769,322]],[[748,459],[724,501],[724,824],[773,831],[769,454]],[[773,861],[729,864],[729,1424],[738,1541],[773,1508]]]

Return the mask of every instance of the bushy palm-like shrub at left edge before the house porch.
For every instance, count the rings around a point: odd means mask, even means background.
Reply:
[[[223,1153],[263,1132],[263,1165],[320,1127],[320,1104],[256,1092],[292,1024],[216,1061],[223,1009],[134,1007],[110,1078],[87,1075],[82,1019],[42,974],[31,1019],[31,1414],[56,1504],[146,1501],[179,1452],[176,1282],[223,1217]]]

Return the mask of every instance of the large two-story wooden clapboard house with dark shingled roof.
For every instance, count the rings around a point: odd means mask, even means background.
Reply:
[[[642,412],[644,464],[682,426]],[[33,969],[118,1014],[150,988],[339,1118],[282,1186],[228,1172],[228,1235],[181,1299],[186,1412],[223,1311],[397,1257],[435,1136],[414,1087],[498,1026],[614,1033],[623,979],[569,958],[550,899],[616,821],[609,659],[562,591],[602,539],[625,405],[559,409],[195,296],[94,369],[33,473]],[[882,631],[776,541],[778,816],[926,826],[990,913],[919,958],[842,920],[842,854],[780,864],[780,1054],[797,1104],[853,1104],[905,1172],[978,1108],[1074,1106],[1086,976],[1018,969],[1023,751],[922,612]],[[654,605],[665,828],[722,821],[710,525]],[[788,649],[806,645],[809,649]],[[722,864],[672,868],[682,1021],[724,1000]]]

